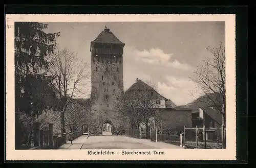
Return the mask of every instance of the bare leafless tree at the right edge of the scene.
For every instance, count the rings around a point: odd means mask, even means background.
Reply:
[[[207,47],[212,58],[204,60],[194,71],[194,77],[190,78],[203,91],[215,109],[222,114],[222,147],[225,148],[226,125],[226,72],[225,72],[225,47],[221,43],[219,47]]]

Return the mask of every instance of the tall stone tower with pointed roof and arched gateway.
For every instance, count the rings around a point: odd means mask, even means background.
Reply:
[[[91,101],[95,131],[101,133],[104,123],[117,125],[115,96],[123,92],[123,47],[106,28],[91,42]]]

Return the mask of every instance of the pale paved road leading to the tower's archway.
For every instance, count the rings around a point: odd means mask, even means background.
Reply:
[[[153,142],[148,139],[136,139],[126,136],[88,136],[82,135],[72,141],[67,141],[59,149],[184,149],[180,146],[163,142]]]

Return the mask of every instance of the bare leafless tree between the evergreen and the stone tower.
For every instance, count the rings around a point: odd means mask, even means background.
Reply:
[[[65,133],[65,112],[73,98],[83,97],[89,76],[89,65],[67,48],[54,54],[50,73],[54,78],[55,92],[59,98],[61,133]],[[83,86],[83,87],[81,87]]]

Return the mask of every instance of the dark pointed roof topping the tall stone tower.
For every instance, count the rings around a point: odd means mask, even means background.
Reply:
[[[92,43],[123,44],[109,29],[104,29]]]

